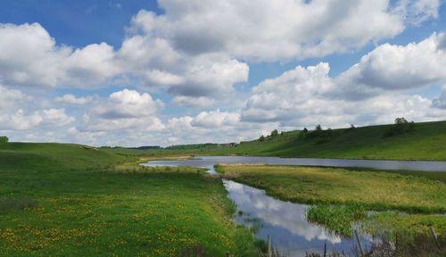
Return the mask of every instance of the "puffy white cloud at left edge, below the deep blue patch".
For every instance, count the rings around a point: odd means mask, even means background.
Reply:
[[[57,46],[38,23],[0,23],[0,82],[6,86],[92,87],[117,72],[111,46]],[[63,85],[62,85],[63,84]]]

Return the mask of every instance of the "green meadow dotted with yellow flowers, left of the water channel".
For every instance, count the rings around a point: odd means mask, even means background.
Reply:
[[[255,253],[219,179],[193,168],[139,168],[128,153],[0,144],[0,255]]]

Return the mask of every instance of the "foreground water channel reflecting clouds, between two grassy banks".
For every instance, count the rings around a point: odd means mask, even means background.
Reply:
[[[227,197],[242,211],[236,221],[251,228],[259,226],[256,236],[265,241],[271,236],[271,244],[288,256],[305,256],[305,253],[322,253],[333,249],[351,253],[355,238],[335,236],[305,218],[308,205],[277,200],[264,190],[248,187],[230,180],[223,180]],[[362,245],[369,246],[371,239],[362,236]]]

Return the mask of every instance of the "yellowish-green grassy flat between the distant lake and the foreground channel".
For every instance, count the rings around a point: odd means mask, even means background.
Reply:
[[[320,223],[341,232],[345,227],[337,228],[340,224],[364,218],[366,210],[398,210],[417,215],[408,214],[398,220],[384,213],[376,218],[391,226],[388,228],[403,228],[401,224],[405,223],[409,225],[406,228],[413,228],[417,232],[428,231],[427,226],[432,225],[442,235],[446,235],[446,219],[442,215],[433,214],[446,212],[446,185],[442,181],[398,173],[319,167],[224,165],[217,168],[224,173],[225,178],[263,188],[268,195],[282,200],[318,204],[318,208],[310,211],[309,218],[322,220]],[[327,220],[331,220],[332,224],[324,221],[328,216],[331,218]],[[347,221],[342,220],[343,217]]]

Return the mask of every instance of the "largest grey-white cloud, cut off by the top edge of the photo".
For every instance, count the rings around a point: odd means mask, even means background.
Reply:
[[[255,5],[161,0],[159,4],[165,13],[140,11],[132,21],[133,30],[167,38],[187,54],[225,52],[263,61],[324,56],[404,29],[402,15],[392,12],[387,0],[261,0]]]

